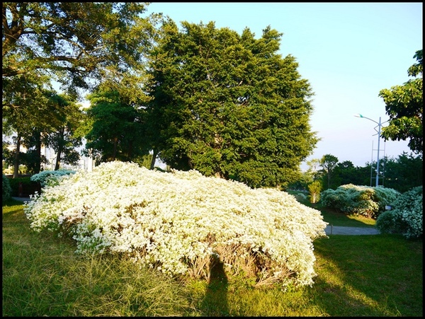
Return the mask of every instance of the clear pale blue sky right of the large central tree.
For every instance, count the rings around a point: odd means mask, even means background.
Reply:
[[[247,27],[257,38],[270,25],[283,33],[279,53],[297,59],[298,71],[315,93],[311,124],[322,141],[307,159],[331,154],[355,166],[376,161],[372,147],[378,148],[378,137],[377,124],[353,115],[388,120],[379,91],[409,80],[407,69],[422,49],[421,2],[154,2],[147,9],[178,25],[215,21],[216,28],[239,34]],[[407,141],[384,144],[381,139],[380,158],[384,145],[390,157],[410,152]]]

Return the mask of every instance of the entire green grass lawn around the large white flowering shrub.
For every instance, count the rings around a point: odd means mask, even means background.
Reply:
[[[317,209],[322,210],[321,207]],[[335,226],[369,221],[323,212]],[[253,289],[218,273],[177,281],[118,256],[74,255],[72,240],[35,233],[21,202],[3,204],[3,316],[422,316],[422,240],[398,235],[314,241],[310,287]]]

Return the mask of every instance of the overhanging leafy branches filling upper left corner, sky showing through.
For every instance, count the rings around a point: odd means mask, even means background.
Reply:
[[[132,77],[154,35],[147,5],[3,2],[2,76],[48,71],[70,93]]]

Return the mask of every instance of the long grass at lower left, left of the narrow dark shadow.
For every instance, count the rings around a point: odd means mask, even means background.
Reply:
[[[3,207],[4,316],[196,314],[184,286],[128,260],[77,257],[71,240],[30,231],[22,203]]]

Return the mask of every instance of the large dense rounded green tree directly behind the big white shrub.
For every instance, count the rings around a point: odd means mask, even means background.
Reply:
[[[312,91],[295,58],[278,54],[281,33],[259,39],[210,22],[169,20],[152,51],[147,87],[155,146],[171,168],[282,186],[300,175],[317,137]]]

